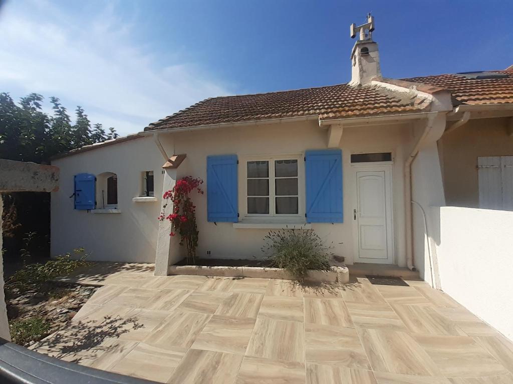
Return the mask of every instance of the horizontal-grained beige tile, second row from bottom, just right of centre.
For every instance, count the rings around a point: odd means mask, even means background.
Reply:
[[[312,364],[370,369],[354,328],[305,324],[305,359]]]

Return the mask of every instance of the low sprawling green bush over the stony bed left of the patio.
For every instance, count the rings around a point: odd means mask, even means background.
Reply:
[[[73,252],[76,255],[80,255],[77,260],[72,260],[71,253],[68,252],[64,255],[58,255],[55,260],[49,260],[45,264],[28,264],[24,266],[6,281],[6,288],[26,290],[46,283],[57,276],[70,273],[78,267],[92,265],[92,263],[86,261],[88,254],[84,253],[84,248],[73,249]]]

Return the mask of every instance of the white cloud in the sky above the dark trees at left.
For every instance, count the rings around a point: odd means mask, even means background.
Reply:
[[[124,135],[204,98],[230,93],[175,54],[166,56],[172,60],[167,65],[159,64],[163,54],[136,43],[133,20],[121,19],[112,4],[89,18],[40,1],[30,7],[7,3],[2,11],[0,88],[13,96],[60,97],[70,112],[82,105],[93,123],[114,125]]]

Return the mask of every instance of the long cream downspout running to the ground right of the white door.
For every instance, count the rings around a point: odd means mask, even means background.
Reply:
[[[406,159],[406,163],[404,165],[404,201],[406,204],[405,215],[406,215],[406,265],[412,271],[416,271],[415,265],[413,263],[413,239],[412,239],[412,218],[411,218],[411,163],[417,157],[419,153],[419,148],[424,142],[425,138],[429,135],[431,131],[431,127],[433,126],[433,120],[436,115],[428,115],[427,124],[422,132],[420,139],[413,147],[408,159]]]

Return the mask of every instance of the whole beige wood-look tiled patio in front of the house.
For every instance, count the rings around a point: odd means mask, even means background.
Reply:
[[[187,383],[513,383],[513,345],[423,282],[110,275],[34,349]],[[500,310],[500,309],[498,309]]]

